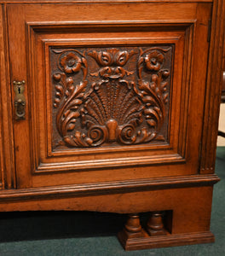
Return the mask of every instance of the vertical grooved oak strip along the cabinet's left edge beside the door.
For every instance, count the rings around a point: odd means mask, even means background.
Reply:
[[[14,140],[6,30],[5,7],[2,5],[0,6],[0,187],[12,189],[15,187]]]

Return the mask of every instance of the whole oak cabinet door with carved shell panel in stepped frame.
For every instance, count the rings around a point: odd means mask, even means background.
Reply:
[[[7,15],[12,88],[25,81],[12,98],[26,98],[13,121],[18,188],[199,172],[211,3],[11,4]]]

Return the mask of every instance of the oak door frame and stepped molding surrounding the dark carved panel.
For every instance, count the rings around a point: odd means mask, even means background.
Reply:
[[[22,122],[14,122],[14,143],[17,148],[15,166],[20,170],[17,172],[18,187],[90,183],[93,180],[104,182],[159,175],[163,177],[168,176],[168,173],[174,176],[198,172],[196,166],[199,163],[201,131],[195,129],[193,132],[192,125],[196,115],[199,117],[203,114],[204,91],[199,91],[198,87],[204,90],[206,72],[203,63],[206,67],[207,26],[211,15],[211,3],[199,5],[186,3],[185,11],[181,3],[174,5],[166,3],[166,5],[170,12],[164,14],[164,6],[153,3],[151,15],[143,3],[131,7],[121,3],[120,9],[113,4],[101,3],[97,7],[87,3],[80,4],[78,9],[74,5],[70,6],[69,10],[66,5],[54,5],[54,7],[51,5],[42,7],[10,5],[8,7],[9,55],[20,60],[20,65],[15,59],[12,62],[11,77],[13,80],[22,78],[26,80],[26,116],[29,116],[29,113],[31,116],[30,119]],[[54,14],[51,13],[53,8]],[[133,20],[124,16],[134,9]],[[201,14],[203,10],[204,16]],[[16,23],[14,22],[15,12],[18,14]],[[117,12],[117,20],[110,15],[114,12]],[[77,15],[74,15],[75,13]],[[92,20],[89,20],[89,13],[93,14]],[[176,21],[174,13],[176,13]],[[61,21],[58,21],[59,16]],[[195,21],[196,18],[197,21]],[[158,28],[159,23],[164,23],[164,26],[161,25],[161,28]],[[13,24],[12,27],[11,24]],[[25,29],[24,24],[26,24]],[[205,38],[205,40],[200,40],[199,37],[193,38],[194,27],[196,33],[201,35],[200,38]],[[142,32],[138,32],[140,29]],[[62,30],[63,40],[61,39]],[[155,32],[157,30],[159,32]],[[16,33],[18,31],[20,31],[19,37]],[[77,45],[78,48],[84,44],[89,50],[89,45],[99,47],[101,40],[102,43],[115,48],[117,45],[124,44],[124,35],[129,38],[126,43],[128,45],[150,44],[152,47],[160,44],[166,47],[175,45],[171,81],[173,85],[170,90],[171,107],[168,119],[168,141],[170,143],[149,145],[142,143],[129,148],[123,145],[120,147],[109,145],[107,148],[101,146],[98,148],[62,148],[54,152],[51,148],[51,137],[57,131],[54,131],[55,126],[52,126],[55,120],[52,114],[54,102],[51,101],[53,96],[51,96],[52,89],[50,88],[53,85],[49,70],[55,66],[51,67],[49,64],[50,47],[76,49]],[[16,44],[20,42],[20,52],[14,47],[15,41]],[[188,57],[195,55],[194,50],[201,54],[201,61],[191,60]],[[26,52],[29,52],[29,55],[26,55]],[[201,72],[199,73],[197,71],[200,64]],[[23,66],[22,71],[21,66]],[[35,71],[38,71],[38,76]],[[194,76],[198,77],[198,80]],[[189,79],[193,83],[189,84]],[[98,80],[95,79],[95,81]],[[200,86],[199,83],[202,85]],[[192,91],[191,98],[190,90]],[[182,108],[180,108],[181,105],[183,105]],[[179,121],[179,119],[182,120]],[[188,139],[191,143],[187,142]],[[179,168],[173,164],[161,165],[159,173],[153,165],[163,163],[177,163]],[[91,172],[87,175],[89,170]],[[54,172],[58,172],[57,175],[52,175]]]

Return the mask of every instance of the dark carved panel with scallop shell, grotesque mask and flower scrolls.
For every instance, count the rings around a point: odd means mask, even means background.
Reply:
[[[172,49],[50,49],[53,147],[165,141]]]

